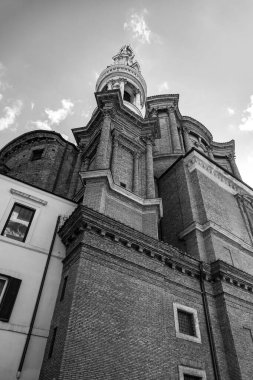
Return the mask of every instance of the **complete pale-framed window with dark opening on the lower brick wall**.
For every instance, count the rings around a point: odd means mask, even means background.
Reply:
[[[192,342],[201,343],[197,310],[178,303],[173,303],[173,309],[176,336]]]

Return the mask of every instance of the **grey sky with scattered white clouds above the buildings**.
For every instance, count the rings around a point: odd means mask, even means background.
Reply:
[[[74,142],[98,75],[130,44],[148,96],[178,93],[182,115],[235,140],[253,187],[252,0],[1,0],[0,148],[34,130]]]

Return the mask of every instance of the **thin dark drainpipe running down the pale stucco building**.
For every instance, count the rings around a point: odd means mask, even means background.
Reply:
[[[56,238],[56,234],[57,234],[57,231],[58,231],[59,223],[60,223],[60,216],[58,216],[57,222],[56,222],[56,225],[55,225],[53,238],[52,238],[52,241],[51,241],[51,245],[50,245],[48,256],[47,256],[47,261],[46,261],[46,264],[45,264],[43,276],[42,276],[41,283],[40,283],[40,288],[39,288],[37,299],[36,299],[35,306],[34,306],[34,309],[33,309],[31,323],[30,323],[30,326],[29,326],[28,334],[26,336],[26,341],[25,341],[24,349],[23,349],[22,356],[21,356],[21,359],[20,359],[18,371],[17,371],[17,374],[16,374],[16,378],[17,379],[20,379],[21,372],[22,372],[23,365],[24,365],[24,361],[25,361],[25,357],[26,357],[26,353],[27,353],[28,346],[29,346],[29,343],[30,343],[30,340],[31,340],[32,330],[33,330],[34,322],[35,322],[35,319],[36,319],[36,316],[37,316],[37,311],[38,311],[38,308],[39,308],[39,303],[40,303],[43,287],[44,287],[44,284],[45,284],[46,275],[47,275],[50,259],[51,259],[51,256],[52,256],[52,251],[53,251],[53,247],[54,247],[55,238]]]

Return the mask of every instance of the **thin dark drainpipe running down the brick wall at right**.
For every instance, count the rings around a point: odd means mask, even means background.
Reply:
[[[202,295],[203,306],[204,306],[208,340],[209,340],[209,345],[210,345],[210,350],[211,350],[214,378],[215,380],[221,380],[219,366],[218,366],[217,352],[216,352],[215,343],[214,343],[213,329],[212,329],[212,324],[211,324],[211,316],[210,316],[208,301],[207,301],[207,296],[206,296],[206,288],[205,288],[205,281],[204,281],[205,272],[203,269],[203,261],[199,263],[199,271],[200,271],[199,282],[200,282],[201,295]]]

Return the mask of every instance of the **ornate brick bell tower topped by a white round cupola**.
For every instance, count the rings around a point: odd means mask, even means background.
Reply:
[[[157,118],[144,118],[146,93],[133,50],[125,45],[97,80],[91,120],[73,133],[82,151],[83,204],[157,238],[162,216],[153,169]]]

